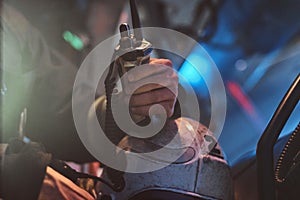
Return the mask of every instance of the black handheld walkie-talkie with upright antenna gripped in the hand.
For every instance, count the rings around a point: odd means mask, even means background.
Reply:
[[[130,69],[149,63],[150,53],[152,52],[152,44],[143,38],[135,0],[130,0],[130,8],[133,31],[126,23],[121,24],[119,27],[121,38],[115,48],[110,71],[106,79],[107,109],[111,109],[111,105],[109,105],[111,103],[109,102],[111,101],[111,95],[123,90],[119,84],[117,86],[118,80]],[[108,85],[110,85],[109,88],[107,88]],[[109,110],[107,111],[109,112]],[[144,117],[137,115],[133,115],[132,118],[135,123],[144,119]]]

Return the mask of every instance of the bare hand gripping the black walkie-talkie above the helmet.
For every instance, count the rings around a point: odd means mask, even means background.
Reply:
[[[145,84],[147,82],[153,83]],[[133,91],[137,86],[141,87]],[[125,98],[130,98],[131,114],[149,116],[149,108],[160,104],[164,107],[167,117],[171,117],[178,95],[178,76],[172,68],[172,62],[167,59],[151,59],[149,64],[143,65],[139,70],[130,71],[125,93]],[[129,96],[132,93],[133,95]],[[154,112],[162,114],[161,110]]]

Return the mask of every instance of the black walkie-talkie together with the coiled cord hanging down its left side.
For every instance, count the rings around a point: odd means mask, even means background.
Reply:
[[[120,25],[119,44],[116,46],[112,62],[105,79],[106,91],[106,116],[105,133],[109,135],[110,140],[117,145],[124,137],[124,133],[117,126],[112,113],[112,96],[118,95],[118,83],[120,78],[130,69],[141,64],[149,63],[152,45],[143,38],[141,24],[137,12],[135,0],[130,0],[133,33],[129,25],[123,23]],[[121,88],[122,89],[122,88]],[[141,121],[144,117],[133,116],[135,123]],[[106,167],[108,177],[116,191],[122,191],[125,187],[123,172]]]

